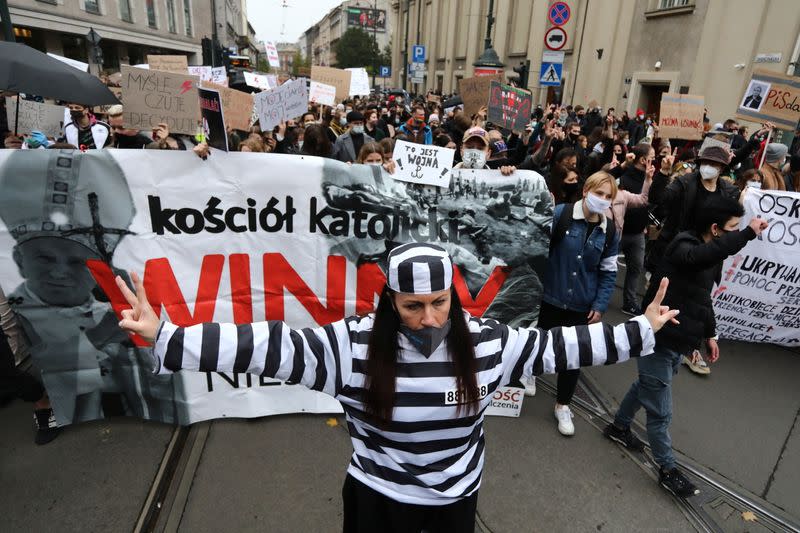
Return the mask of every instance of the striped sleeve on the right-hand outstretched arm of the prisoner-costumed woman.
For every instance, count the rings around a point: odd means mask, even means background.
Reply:
[[[506,382],[582,366],[622,363],[653,353],[655,335],[642,315],[623,324],[511,329],[504,349]]]

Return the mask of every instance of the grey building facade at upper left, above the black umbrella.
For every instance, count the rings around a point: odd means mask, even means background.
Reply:
[[[100,36],[102,65],[147,61],[148,54],[184,54],[202,62],[201,39],[210,37],[212,0],[9,0],[17,42],[94,63],[86,36]],[[101,68],[98,68],[101,67]]]

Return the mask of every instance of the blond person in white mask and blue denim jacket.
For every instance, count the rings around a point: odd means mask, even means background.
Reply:
[[[606,213],[616,196],[616,180],[600,171],[587,178],[580,201],[556,206],[538,327],[594,324],[608,310],[619,233]],[[577,368],[558,373],[554,415],[565,436],[575,433],[569,404],[579,377]],[[529,382],[526,394],[534,391]]]

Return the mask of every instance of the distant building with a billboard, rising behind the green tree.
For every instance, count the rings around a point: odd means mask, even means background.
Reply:
[[[298,41],[312,65],[336,65],[336,43],[349,28],[363,28],[375,36],[380,50],[392,42],[390,0],[346,0],[307,29]]]

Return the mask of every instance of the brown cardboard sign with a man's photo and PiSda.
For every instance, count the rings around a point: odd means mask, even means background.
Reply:
[[[751,122],[773,122],[794,130],[800,120],[800,78],[755,69],[742,95],[736,116]]]

